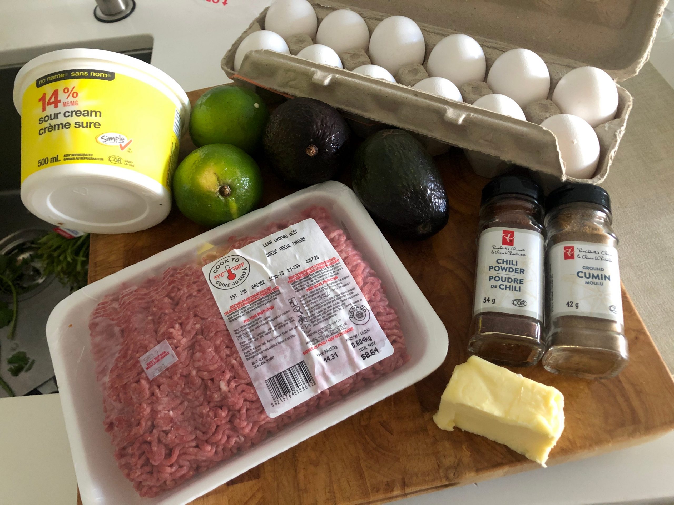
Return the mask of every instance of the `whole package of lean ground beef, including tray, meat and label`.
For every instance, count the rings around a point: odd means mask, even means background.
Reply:
[[[73,459],[104,459],[78,471],[85,504],[101,495],[111,504],[186,503],[416,382],[447,350],[439,318],[338,182],[290,195],[82,292],[79,302],[69,298],[69,315],[55,310],[48,334],[57,378],[67,376],[59,378],[66,424],[77,418],[68,426]],[[75,368],[88,364],[86,384],[67,364],[77,345],[62,345],[73,327],[82,344]],[[406,329],[414,329],[407,341]],[[353,395],[359,390],[378,391]],[[89,419],[82,426],[85,404],[101,413],[93,416],[98,432]],[[283,443],[265,451],[270,439]],[[93,475],[92,467],[110,471],[111,463],[136,498],[118,478]],[[114,493],[102,493],[113,485]]]

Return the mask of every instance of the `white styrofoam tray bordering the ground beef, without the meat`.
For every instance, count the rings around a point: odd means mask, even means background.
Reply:
[[[92,310],[106,294],[119,289],[122,284],[135,285],[162,273],[171,265],[193,261],[197,250],[204,244],[225,243],[228,237],[262,229],[268,222],[297,215],[311,205],[321,205],[330,210],[334,222],[347,232],[365,261],[383,281],[390,304],[398,312],[410,361],[361,391],[287,426],[257,446],[196,475],[175,489],[156,498],[140,498],[131,482],[118,469],[109,434],[103,429],[102,392],[96,382],[90,354],[88,323]],[[448,350],[448,334],[440,318],[353,191],[335,181],[298,191],[71,294],[51,313],[47,322],[47,341],[59,383],[75,473],[85,505],[186,504],[346,417],[418,382],[440,366]]]

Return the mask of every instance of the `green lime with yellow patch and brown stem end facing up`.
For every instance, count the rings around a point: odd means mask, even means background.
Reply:
[[[204,145],[175,169],[173,197],[193,222],[218,226],[255,208],[262,197],[262,174],[239,147]]]

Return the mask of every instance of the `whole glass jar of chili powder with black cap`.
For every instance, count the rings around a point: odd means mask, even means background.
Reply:
[[[482,190],[468,351],[510,366],[537,364],[543,343],[543,190],[497,177]]]

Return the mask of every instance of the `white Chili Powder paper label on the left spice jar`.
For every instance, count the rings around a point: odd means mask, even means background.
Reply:
[[[473,315],[502,312],[543,321],[543,236],[487,228],[477,247]]]

